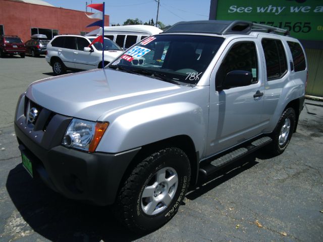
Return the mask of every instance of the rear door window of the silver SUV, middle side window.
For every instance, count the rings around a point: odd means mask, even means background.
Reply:
[[[287,72],[287,62],[282,41],[262,39],[261,44],[266,61],[267,80],[283,77]]]

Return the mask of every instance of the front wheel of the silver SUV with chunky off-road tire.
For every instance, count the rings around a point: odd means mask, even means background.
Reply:
[[[132,170],[120,189],[114,205],[117,219],[137,233],[163,226],[181,205],[190,175],[190,162],[182,150],[167,148],[151,154]]]

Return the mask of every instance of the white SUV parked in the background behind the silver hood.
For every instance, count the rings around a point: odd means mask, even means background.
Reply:
[[[95,36],[59,35],[47,44],[46,61],[55,75],[67,70],[91,70],[102,68],[102,43],[88,45]],[[104,66],[123,52],[122,48],[108,38],[104,38]]]

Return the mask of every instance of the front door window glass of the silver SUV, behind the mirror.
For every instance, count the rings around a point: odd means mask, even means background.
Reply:
[[[254,42],[235,43],[224,58],[216,77],[217,90],[231,71],[246,71],[252,74],[252,83],[258,82],[257,52]]]

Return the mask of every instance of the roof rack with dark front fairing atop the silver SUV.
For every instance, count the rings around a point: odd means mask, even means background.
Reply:
[[[255,24],[249,21],[235,20],[204,20],[179,22],[164,31],[164,33],[210,33],[210,34],[249,34],[254,31],[263,31],[267,33],[280,33],[289,35],[286,29],[280,29],[273,26]]]

